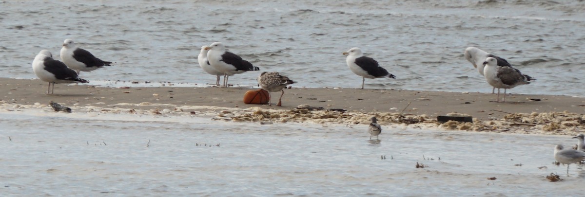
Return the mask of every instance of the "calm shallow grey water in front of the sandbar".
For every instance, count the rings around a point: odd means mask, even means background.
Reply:
[[[571,136],[384,126],[378,141],[367,125],[38,109],[0,117],[2,196],[579,196],[585,178],[583,166],[567,177],[552,164],[554,144]]]

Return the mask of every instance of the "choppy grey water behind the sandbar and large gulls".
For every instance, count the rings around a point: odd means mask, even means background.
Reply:
[[[585,96],[585,2],[563,1],[2,1],[0,73],[35,78],[42,49],[59,58],[72,38],[115,66],[84,72],[105,81],[214,83],[202,45],[229,51],[305,87],[359,87],[342,52],[360,47],[397,79],[366,88],[490,92],[463,57],[475,46],[536,79],[509,93]],[[255,86],[259,72],[230,78]]]

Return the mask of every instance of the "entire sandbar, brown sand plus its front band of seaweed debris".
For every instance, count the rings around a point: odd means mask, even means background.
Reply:
[[[151,112],[188,113],[197,109],[195,114],[208,111],[207,115],[214,115],[212,112],[215,112],[217,117],[227,117],[224,119],[253,122],[302,122],[311,119],[318,123],[365,124],[369,123],[367,121],[372,115],[377,115],[383,118],[382,124],[428,124],[424,126],[425,128],[434,125],[469,131],[506,129],[517,132],[528,130],[542,132],[538,131],[539,129],[545,132],[585,131],[583,121],[585,99],[572,96],[508,94],[507,102],[494,103],[490,101],[495,100],[496,95],[491,93],[293,86],[292,89],[285,89],[283,106],[277,107],[274,104],[273,106],[244,104],[242,101],[244,93],[257,88],[101,87],[57,84],[53,95],[44,94],[46,89],[47,83],[38,79],[0,78],[2,94],[0,103],[6,106],[42,106],[48,105],[49,101],[55,101],[72,108],[92,106]],[[280,92],[272,94],[275,98],[272,103],[276,103]],[[298,105],[322,107],[324,110],[297,109]],[[226,112],[226,109],[229,110]],[[404,113],[400,113],[402,110]],[[436,122],[436,116],[448,114],[471,115],[474,122],[473,124]],[[549,128],[546,128],[547,125]]]

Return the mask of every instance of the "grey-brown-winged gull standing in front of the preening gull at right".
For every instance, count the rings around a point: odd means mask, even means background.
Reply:
[[[493,57],[486,58],[483,62],[484,76],[487,83],[498,89],[498,97],[496,102],[500,102],[500,88],[504,89],[504,101],[506,101],[506,90],[516,87],[518,85],[530,84],[528,78],[522,75],[518,69],[508,66],[498,66],[497,59]]]

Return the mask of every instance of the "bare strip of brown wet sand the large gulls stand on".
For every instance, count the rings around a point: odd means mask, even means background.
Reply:
[[[473,118],[487,121],[500,119],[510,113],[531,112],[585,112],[585,99],[570,96],[508,94],[505,103],[492,102],[495,94],[425,92],[412,90],[374,90],[374,89],[338,89],[338,88],[302,88],[286,89],[283,106],[263,106],[244,104],[242,97],[246,91],[242,87],[173,87],[166,83],[164,87],[99,87],[91,85],[68,86],[57,84],[53,95],[44,94],[47,83],[41,80],[0,78],[0,100],[11,104],[32,105],[56,101],[65,105],[93,105],[97,107],[116,107],[121,103],[161,103],[159,109],[173,105],[204,105],[230,108],[274,108],[290,110],[298,105],[307,104],[325,109],[343,109],[357,112],[401,112],[405,114],[432,117],[446,115],[450,112],[469,114]],[[491,89],[486,89],[490,91]],[[512,89],[510,92],[514,92]],[[280,92],[273,93],[273,103],[278,101]],[[503,95],[500,95],[503,96]],[[501,99],[501,98],[500,98]],[[530,101],[528,99],[540,99]],[[408,104],[410,103],[410,104]],[[134,108],[149,109],[152,106],[137,105]],[[498,111],[495,111],[498,110]],[[503,111],[503,112],[500,112]]]

